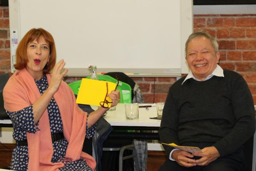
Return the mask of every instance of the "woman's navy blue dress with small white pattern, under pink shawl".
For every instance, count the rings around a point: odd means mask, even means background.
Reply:
[[[41,95],[48,88],[47,77],[44,75],[38,81],[35,81]],[[51,133],[63,132],[63,125],[61,121],[61,114],[58,110],[58,105],[55,99],[52,97],[48,107],[48,116],[50,122]],[[6,111],[10,116],[14,128],[13,138],[21,141],[26,139],[26,132],[35,133],[40,130],[38,123],[34,123],[33,104],[23,108],[16,112]],[[40,120],[39,120],[40,122]],[[86,124],[87,128],[87,124]],[[96,125],[86,131],[86,138],[89,139],[95,134]],[[65,138],[60,139],[52,144],[53,156],[51,162],[60,162],[60,159],[65,157],[68,142]],[[27,146],[16,146],[12,152],[11,169],[15,171],[27,171],[29,162],[28,147]],[[65,164],[63,168],[59,168],[60,171],[92,171],[83,159],[76,160],[69,164]]]

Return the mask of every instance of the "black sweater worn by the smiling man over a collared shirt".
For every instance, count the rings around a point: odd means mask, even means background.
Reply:
[[[159,129],[160,141],[183,145],[212,142],[221,156],[232,154],[255,132],[253,98],[236,72],[207,81],[186,77],[170,89]],[[164,145],[169,158],[173,148]]]

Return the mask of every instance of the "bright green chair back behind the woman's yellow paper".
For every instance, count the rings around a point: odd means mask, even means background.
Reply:
[[[109,75],[97,75],[98,79],[101,81],[109,81],[113,83],[117,83],[117,80]],[[86,77],[90,79],[90,76]],[[78,80],[68,84],[70,88],[73,90],[74,94],[78,94],[79,87],[81,85],[82,80]],[[119,103],[131,103],[131,86],[122,81],[119,81],[119,85],[117,90],[120,91],[120,102]]]

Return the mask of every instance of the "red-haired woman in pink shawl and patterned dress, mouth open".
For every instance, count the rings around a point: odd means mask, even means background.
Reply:
[[[96,162],[82,152],[96,122],[108,110],[100,107],[88,115],[76,104],[69,86],[64,60],[56,61],[52,35],[31,29],[20,41],[15,69],[4,90],[4,107],[14,128],[16,147],[11,169],[16,171],[92,171]],[[52,70],[52,74],[49,72]],[[112,91],[111,107],[120,99]]]

